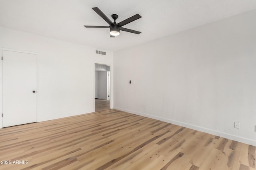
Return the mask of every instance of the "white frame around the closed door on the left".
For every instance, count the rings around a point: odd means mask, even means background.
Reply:
[[[17,49],[9,49],[9,48],[4,48],[4,47],[0,47],[0,54],[1,54],[1,58],[3,56],[3,50],[5,51],[14,51],[14,52],[19,52],[19,53],[28,53],[28,54],[34,54],[36,55],[36,89],[38,90],[38,60],[37,60],[37,55],[38,53],[36,52],[32,52],[32,51],[23,51],[23,50],[17,50]],[[3,65],[3,62],[2,62],[2,59],[1,59],[1,64],[0,64],[0,129],[3,128],[3,118],[2,118],[2,113],[3,113],[3,88],[2,88],[2,85],[3,85],[3,77],[2,77],[2,65]],[[36,117],[37,117],[37,108],[38,108],[38,93],[36,95]]]

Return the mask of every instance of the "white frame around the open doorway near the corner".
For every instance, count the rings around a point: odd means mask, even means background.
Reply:
[[[106,66],[109,66],[109,73],[110,73],[110,82],[109,82],[109,86],[110,86],[110,100],[109,100],[109,107],[110,109],[113,109],[113,72],[112,72],[112,64],[110,63],[103,63],[103,62],[99,62],[99,61],[94,61],[94,76],[93,76],[93,106],[94,106],[94,111],[95,111],[95,64],[101,64],[101,65],[106,65]]]

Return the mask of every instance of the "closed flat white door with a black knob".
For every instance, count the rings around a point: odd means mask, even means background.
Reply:
[[[36,55],[2,50],[3,127],[36,122]]]

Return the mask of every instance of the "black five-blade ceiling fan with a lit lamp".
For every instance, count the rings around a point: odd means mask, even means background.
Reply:
[[[116,23],[116,19],[118,18],[117,14],[112,14],[111,17],[114,19],[114,23],[112,21],[110,21],[110,19],[108,19],[108,17],[98,8],[98,7],[94,7],[92,8],[101,18],[103,18],[103,20],[105,20],[109,26],[91,26],[91,25],[84,25],[84,27],[86,28],[110,28],[110,37],[115,37],[117,35],[120,34],[120,30],[121,31],[126,31],[126,32],[130,32],[130,33],[136,33],[136,34],[140,34],[140,31],[135,31],[132,29],[128,29],[128,28],[124,28],[122,26],[138,20],[139,18],[141,18],[141,16],[139,14],[136,14],[130,18],[127,18],[124,21],[121,21],[119,23]]]

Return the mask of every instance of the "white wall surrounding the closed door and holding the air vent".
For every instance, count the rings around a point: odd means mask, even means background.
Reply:
[[[0,37],[0,47],[38,53],[38,121],[94,111],[94,63],[113,64],[112,52],[4,27]]]

